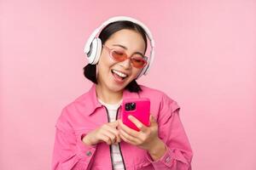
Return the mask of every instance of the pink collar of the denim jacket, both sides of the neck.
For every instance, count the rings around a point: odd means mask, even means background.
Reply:
[[[92,115],[95,110],[99,107],[102,107],[102,104],[99,102],[99,100],[97,99],[97,95],[96,95],[96,84],[93,84],[90,88],[90,90],[88,91],[88,96],[85,99],[85,105],[86,105],[86,111],[85,113],[87,115]],[[139,94],[138,93],[131,93],[129,90],[124,89],[123,92],[123,99],[128,99],[128,98],[139,98]]]

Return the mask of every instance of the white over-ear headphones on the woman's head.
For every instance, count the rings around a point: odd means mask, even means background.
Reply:
[[[127,16],[112,17],[106,20],[105,22],[103,22],[101,26],[99,26],[98,28],[96,28],[95,31],[92,32],[92,34],[90,35],[88,41],[84,46],[84,53],[87,54],[88,62],[91,65],[96,65],[99,61],[99,58],[102,52],[102,41],[100,38],[96,37],[96,35],[103,29],[103,27],[108,26],[108,24],[115,21],[122,21],[122,20],[127,20],[133,23],[136,23],[137,25],[142,26],[143,30],[146,32],[146,35],[150,41],[150,46],[151,46],[150,57],[148,60],[148,64],[143,67],[143,70],[140,72],[137,78],[143,75],[147,75],[154,60],[154,39],[147,26],[145,26],[141,21],[133,19],[131,17],[127,17]]]

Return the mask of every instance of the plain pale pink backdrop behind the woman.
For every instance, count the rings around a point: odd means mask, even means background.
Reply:
[[[49,169],[61,109],[91,83],[84,43],[113,15],[153,32],[139,82],[166,92],[195,170],[256,169],[256,1],[14,1],[0,8],[0,169]]]

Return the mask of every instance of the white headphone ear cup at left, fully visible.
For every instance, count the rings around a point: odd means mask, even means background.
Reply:
[[[96,65],[102,52],[102,41],[100,38],[96,37],[90,43],[90,51],[87,54],[88,63],[91,65]]]

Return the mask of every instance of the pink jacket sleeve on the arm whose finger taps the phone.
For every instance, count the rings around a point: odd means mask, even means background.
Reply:
[[[84,133],[74,133],[68,122],[67,110],[63,109],[55,124],[55,144],[52,156],[53,170],[90,169],[90,161],[96,151],[96,145],[83,143]]]

